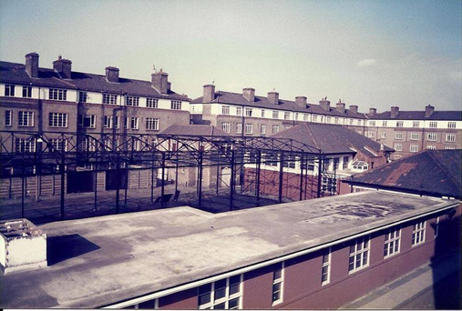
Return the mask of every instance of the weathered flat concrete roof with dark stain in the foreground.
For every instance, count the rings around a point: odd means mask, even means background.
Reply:
[[[0,276],[0,306],[105,306],[456,205],[363,192],[221,214],[189,206],[56,222],[45,268]]]

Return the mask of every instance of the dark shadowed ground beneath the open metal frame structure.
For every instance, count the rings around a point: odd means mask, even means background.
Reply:
[[[174,206],[191,206],[211,213],[228,212],[230,210],[229,190],[223,190],[216,195],[215,189],[204,190],[202,203],[199,206],[196,187],[179,187],[180,198],[177,202],[152,204],[150,188],[128,189],[127,200],[125,190],[119,192],[119,213],[147,211]],[[174,185],[165,186],[165,194],[173,194]],[[233,209],[251,208],[256,205],[254,196],[239,193],[234,195]],[[154,188],[154,199],[160,196],[160,187]],[[41,196],[36,202],[34,198],[26,198],[24,216],[36,225],[61,220],[60,196]],[[259,206],[276,204],[271,197],[262,197]],[[94,216],[116,214],[116,191],[101,191],[97,194],[97,208],[95,208],[95,194],[69,194],[65,197],[65,219],[78,219]],[[21,199],[2,200],[0,203],[0,220],[22,217]]]

